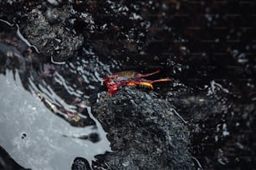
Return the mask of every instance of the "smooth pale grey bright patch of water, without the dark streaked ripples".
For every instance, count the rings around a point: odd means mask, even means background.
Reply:
[[[110,151],[110,143],[100,123],[86,107],[95,125],[74,128],[56,117],[36,95],[24,91],[18,74],[0,75],[0,144],[24,168],[67,169],[75,157],[86,158]],[[99,135],[93,143],[79,137]]]

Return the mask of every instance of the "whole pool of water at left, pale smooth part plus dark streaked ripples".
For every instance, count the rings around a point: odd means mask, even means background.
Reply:
[[[32,169],[69,169],[76,157],[91,163],[110,151],[89,101],[109,67],[93,53],[63,65],[39,60],[13,27],[1,23],[1,147]]]

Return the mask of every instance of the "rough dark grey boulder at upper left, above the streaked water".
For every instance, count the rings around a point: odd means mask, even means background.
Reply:
[[[49,8],[45,13],[35,8],[28,13],[28,22],[22,27],[23,34],[45,56],[62,62],[74,56],[84,42],[82,35],[75,35],[64,27],[69,18],[69,6]]]

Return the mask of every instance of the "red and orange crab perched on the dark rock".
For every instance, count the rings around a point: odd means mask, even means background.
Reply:
[[[103,82],[106,84],[108,88],[109,94],[115,94],[121,87],[125,86],[143,86],[149,87],[153,89],[152,83],[154,82],[168,82],[171,81],[170,78],[161,78],[158,80],[147,80],[143,77],[149,77],[153,74],[160,72],[157,70],[156,72],[141,74],[134,71],[123,71],[116,72],[108,77],[103,77]]]

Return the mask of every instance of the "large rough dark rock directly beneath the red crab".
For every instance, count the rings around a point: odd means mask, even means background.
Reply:
[[[96,167],[106,164],[110,169],[194,168],[186,124],[172,112],[172,104],[154,92],[131,87],[112,97],[103,92],[93,108],[95,117],[109,132],[113,150],[99,156]]]

